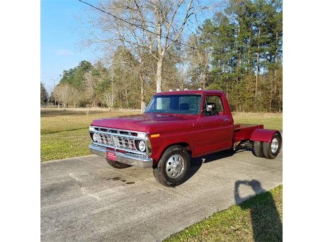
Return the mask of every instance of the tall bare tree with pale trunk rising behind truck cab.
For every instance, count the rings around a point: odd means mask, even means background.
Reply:
[[[156,91],[160,92],[166,54],[180,40],[189,18],[209,7],[193,0],[101,1],[99,8],[113,16],[96,12],[99,17],[92,23],[100,26],[101,35],[91,31],[90,43],[122,43],[136,49],[138,56],[138,49],[149,53],[155,60]]]

